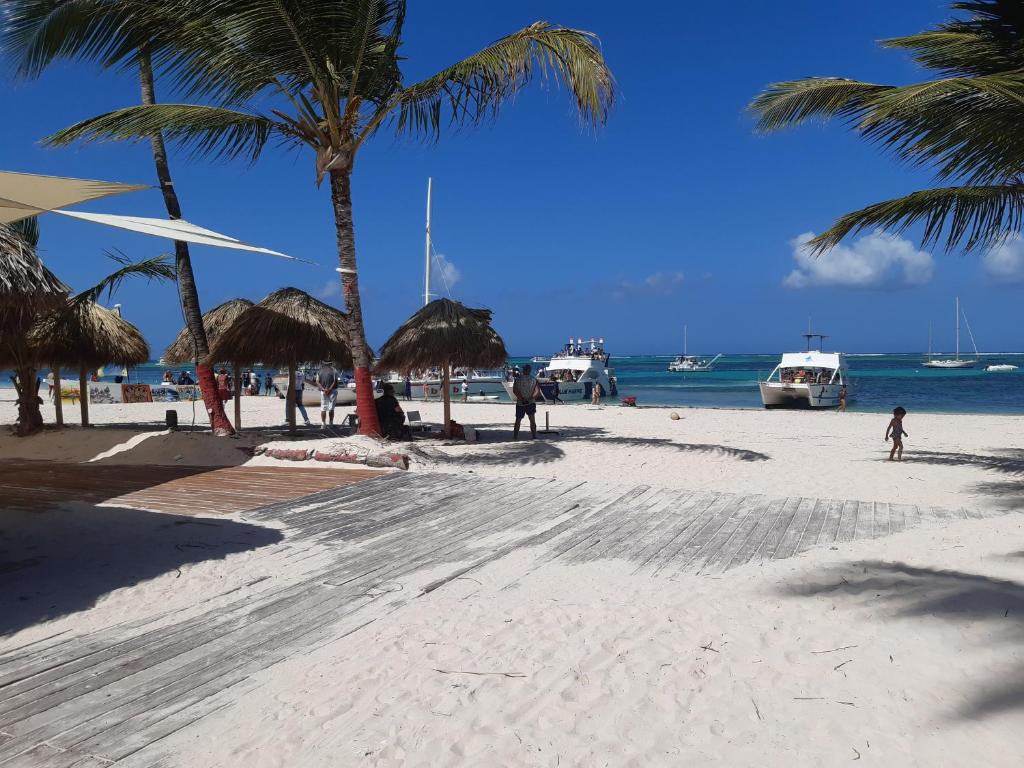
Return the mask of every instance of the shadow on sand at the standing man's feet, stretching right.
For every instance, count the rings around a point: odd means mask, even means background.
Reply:
[[[744,462],[764,462],[771,459],[767,454],[746,449],[720,445],[710,442],[679,442],[667,437],[631,437],[616,435],[605,429],[594,427],[559,427],[557,434],[539,434],[538,439],[529,439],[529,428],[524,425],[519,440],[514,440],[507,425],[481,424],[478,427],[480,442],[472,452],[458,456],[444,454],[435,457],[455,464],[547,464],[561,459],[565,452],[558,447],[562,442],[591,442],[595,445],[621,447],[669,449],[680,453],[695,453],[708,456],[736,459]],[[524,436],[525,435],[525,436]]]

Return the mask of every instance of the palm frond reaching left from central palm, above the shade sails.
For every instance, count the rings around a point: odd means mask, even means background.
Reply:
[[[43,143],[63,146],[74,141],[143,140],[162,131],[166,139],[194,157],[255,161],[278,128],[262,115],[222,106],[153,104],[126,106],[83,120],[47,136]]]

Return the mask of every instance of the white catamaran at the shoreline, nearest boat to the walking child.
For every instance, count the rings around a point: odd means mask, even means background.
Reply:
[[[812,350],[811,339],[825,339],[806,333],[807,349],[784,352],[765,381],[759,382],[765,408],[838,408],[840,393],[849,385],[846,355],[842,352]],[[820,346],[820,345],[819,345]]]

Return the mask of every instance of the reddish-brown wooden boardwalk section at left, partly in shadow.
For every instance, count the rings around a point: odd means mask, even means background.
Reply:
[[[188,467],[0,460],[6,510],[62,502],[177,514],[247,512],[380,475],[376,469]]]

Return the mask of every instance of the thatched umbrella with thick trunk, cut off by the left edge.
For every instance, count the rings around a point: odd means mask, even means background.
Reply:
[[[38,229],[32,223],[18,228],[0,224],[0,362],[17,370],[17,428],[19,435],[42,429],[36,372],[25,338],[41,311],[58,307],[69,288],[36,255]]]

